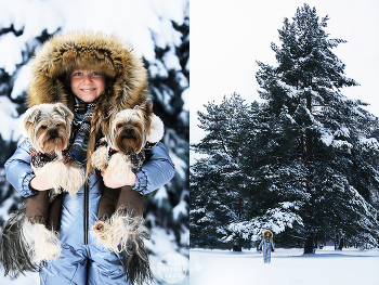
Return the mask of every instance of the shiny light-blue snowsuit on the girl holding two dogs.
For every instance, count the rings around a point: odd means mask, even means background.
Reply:
[[[30,168],[28,143],[21,143],[14,155],[5,163],[8,181],[24,197],[34,193],[29,182],[35,177]],[[146,160],[135,172],[134,190],[141,194],[149,193],[171,180],[174,165],[162,143],[146,151]],[[102,246],[96,245],[91,229],[97,220],[99,202],[104,189],[103,179],[97,173],[90,176],[89,226],[83,229],[83,187],[70,197],[65,193],[62,202],[60,239],[62,256],[47,262],[40,272],[40,284],[128,284],[123,275],[122,259]],[[88,231],[88,244],[84,234]]]

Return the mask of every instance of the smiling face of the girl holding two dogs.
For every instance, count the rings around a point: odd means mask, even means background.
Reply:
[[[105,88],[105,77],[96,70],[74,69],[70,74],[70,82],[73,93],[86,103],[100,98]]]

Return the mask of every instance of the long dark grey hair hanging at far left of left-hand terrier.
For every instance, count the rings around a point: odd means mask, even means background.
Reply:
[[[28,242],[23,231],[23,224],[26,221],[25,212],[24,205],[11,216],[0,234],[0,263],[4,274],[11,277],[41,270],[29,255]]]

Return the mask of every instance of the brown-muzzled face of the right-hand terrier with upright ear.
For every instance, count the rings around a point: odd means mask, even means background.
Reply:
[[[140,153],[146,143],[152,114],[151,100],[133,109],[123,109],[113,114],[104,130],[109,146],[120,153]]]

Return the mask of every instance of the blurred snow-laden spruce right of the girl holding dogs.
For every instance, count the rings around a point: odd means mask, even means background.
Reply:
[[[156,64],[146,62],[149,72],[154,113],[165,122],[164,143],[175,164],[177,174],[157,193],[145,196],[149,209],[147,221],[172,231],[175,243],[190,246],[190,18],[182,25],[172,23],[181,35],[180,44],[155,46]],[[171,232],[170,232],[171,234]],[[188,252],[183,250],[184,255]]]

